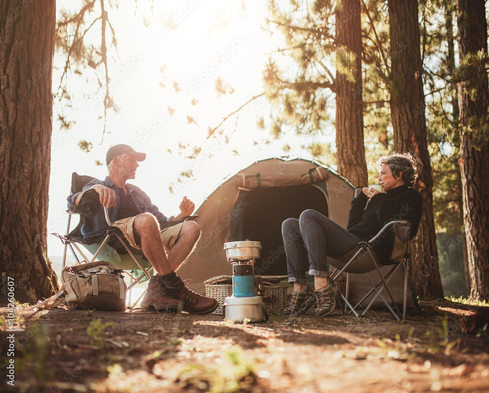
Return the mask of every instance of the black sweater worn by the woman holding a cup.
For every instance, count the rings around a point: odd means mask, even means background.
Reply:
[[[421,194],[403,184],[386,193],[368,198],[360,192],[352,201],[347,231],[357,238],[370,240],[392,220],[411,221],[411,239],[418,233],[422,213]],[[366,206],[365,206],[366,205]],[[374,251],[387,262],[392,252],[394,234],[392,230],[378,239]]]

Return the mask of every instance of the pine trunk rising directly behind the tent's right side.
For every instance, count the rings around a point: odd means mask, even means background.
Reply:
[[[360,0],[343,0],[336,9],[335,126],[338,171],[354,184],[365,186],[360,10]],[[344,59],[343,65],[339,65],[339,58]],[[350,75],[341,72],[345,66]]]

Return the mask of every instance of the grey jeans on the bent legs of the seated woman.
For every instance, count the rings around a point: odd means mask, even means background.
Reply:
[[[311,209],[302,212],[299,219],[287,218],[282,223],[282,237],[289,283],[299,284],[307,283],[307,270],[311,276],[327,277],[327,256],[340,257],[361,241],[330,218]]]

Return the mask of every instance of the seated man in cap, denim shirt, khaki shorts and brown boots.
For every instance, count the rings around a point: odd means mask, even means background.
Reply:
[[[200,226],[195,221],[169,226],[169,221],[190,216],[195,205],[184,196],[180,213],[167,218],[140,188],[127,184],[128,179],[135,178],[137,162],[145,158],[145,153],[137,153],[128,145],[112,146],[107,152],[109,175],[104,181],[90,181],[82,192],[68,196],[68,209],[78,205],[87,190],[95,190],[101,205],[109,210],[112,225],[121,230],[132,247],[143,251],[157,274],[149,281],[142,307],[208,314],[218,307],[217,300],[191,291],[175,273],[199,239]],[[103,235],[107,230],[102,206],[97,214],[85,214],[81,228],[85,238]]]

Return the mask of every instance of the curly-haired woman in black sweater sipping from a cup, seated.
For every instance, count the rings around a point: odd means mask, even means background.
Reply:
[[[290,305],[283,315],[297,314],[312,290],[306,271],[314,277],[316,316],[326,316],[336,306],[338,284],[328,271],[327,257],[340,257],[362,241],[370,240],[392,220],[411,221],[411,239],[418,232],[422,213],[422,197],[412,188],[418,177],[416,161],[409,153],[393,153],[377,160],[379,192],[362,187],[352,200],[347,228],[315,210],[304,211],[299,219],[288,218],[282,223],[289,283],[293,283]],[[379,262],[388,262],[393,247],[392,232],[378,238],[373,246]]]

